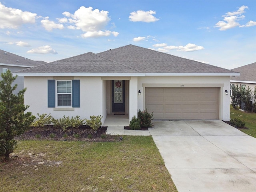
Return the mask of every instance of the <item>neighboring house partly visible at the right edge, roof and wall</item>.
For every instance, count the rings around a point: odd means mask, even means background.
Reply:
[[[240,73],[240,76],[230,77],[230,96],[232,95],[232,87],[238,84],[240,87],[252,88],[252,92],[256,87],[256,62],[242,67],[232,69],[234,72]]]

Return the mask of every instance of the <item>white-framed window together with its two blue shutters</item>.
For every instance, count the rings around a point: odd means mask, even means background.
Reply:
[[[48,80],[48,107],[80,107],[80,80]]]

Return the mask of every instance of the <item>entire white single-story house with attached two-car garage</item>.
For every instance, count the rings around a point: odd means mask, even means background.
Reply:
[[[229,120],[230,76],[239,73],[127,45],[88,52],[17,72],[33,114],[103,116],[138,110],[154,120]],[[226,91],[226,92],[225,92]]]

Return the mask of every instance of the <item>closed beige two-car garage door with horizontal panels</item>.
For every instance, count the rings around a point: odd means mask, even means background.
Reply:
[[[145,108],[157,119],[219,119],[218,87],[146,87]]]

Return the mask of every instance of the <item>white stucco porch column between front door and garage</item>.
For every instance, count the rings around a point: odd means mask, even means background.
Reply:
[[[129,82],[129,120],[138,115],[138,77],[131,77]]]

